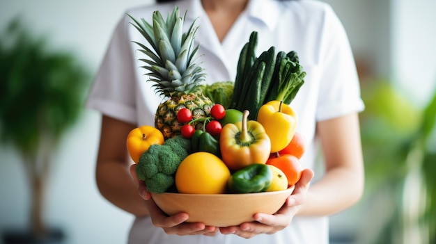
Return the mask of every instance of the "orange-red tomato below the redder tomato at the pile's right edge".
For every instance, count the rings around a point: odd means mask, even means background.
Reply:
[[[293,186],[302,177],[303,167],[296,156],[290,154],[269,158],[267,164],[274,165],[286,175],[288,186]]]

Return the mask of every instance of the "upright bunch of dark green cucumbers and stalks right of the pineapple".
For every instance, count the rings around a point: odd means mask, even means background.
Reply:
[[[250,120],[256,120],[258,109],[272,100],[289,104],[304,83],[306,73],[299,65],[296,51],[279,51],[275,47],[256,58],[258,33],[253,31],[242,48],[230,108],[249,110]]]

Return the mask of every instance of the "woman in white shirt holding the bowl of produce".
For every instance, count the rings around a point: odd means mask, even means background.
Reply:
[[[252,31],[258,32],[259,53],[271,46],[297,51],[307,76],[291,106],[299,115],[297,131],[308,142],[302,158],[307,169],[282,209],[274,215],[258,213],[256,222],[217,228],[185,223],[185,213],[164,215],[143,183],[134,180],[134,165],[126,159],[127,133],[153,124],[160,99],[138,68],[132,40],[145,40],[124,16],[88,107],[103,115],[96,172],[100,192],[137,216],[129,243],[328,243],[327,216],[355,204],[364,188],[357,115],[364,105],[350,44],[334,11],[318,1],[182,0],[128,13],[150,22],[154,10],[165,15],[175,4],[180,13],[187,10],[187,26],[198,17],[196,42],[208,83],[234,80],[240,50]],[[321,169],[315,167],[318,149]],[[313,171],[317,177],[309,187]]]

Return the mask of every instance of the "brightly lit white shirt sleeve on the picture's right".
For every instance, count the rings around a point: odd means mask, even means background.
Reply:
[[[320,48],[322,80],[316,119],[329,120],[364,110],[355,60],[343,25],[326,6]]]

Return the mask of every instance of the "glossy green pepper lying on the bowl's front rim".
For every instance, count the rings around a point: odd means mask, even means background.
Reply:
[[[271,182],[271,168],[263,163],[254,163],[231,175],[228,179],[228,190],[231,193],[259,193],[266,191]]]

